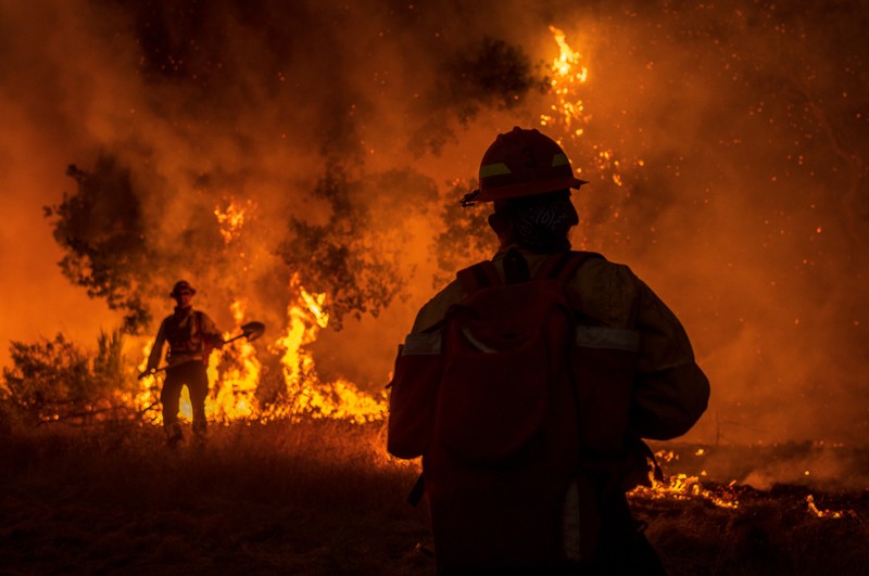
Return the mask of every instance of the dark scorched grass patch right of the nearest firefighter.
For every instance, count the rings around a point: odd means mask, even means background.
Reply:
[[[736,510],[702,501],[635,500],[633,507],[672,576],[867,574],[869,532],[861,519],[869,501],[856,496],[837,503],[860,516],[814,516],[799,489],[744,492]]]

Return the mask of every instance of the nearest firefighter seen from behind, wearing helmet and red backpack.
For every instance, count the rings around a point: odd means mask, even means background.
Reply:
[[[688,432],[709,384],[648,286],[570,251],[584,183],[538,130],[500,135],[462,201],[493,203],[500,249],[400,347],[388,449],[423,457],[439,574],[664,573],[625,492],[648,484],[641,438]]]

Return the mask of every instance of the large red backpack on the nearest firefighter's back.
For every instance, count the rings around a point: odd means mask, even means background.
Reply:
[[[555,255],[515,283],[491,261],[462,270],[467,296],[440,327],[440,354],[423,351],[436,349],[432,332],[408,337],[399,357],[389,449],[424,456],[439,566],[564,560],[565,502],[580,452],[567,282],[591,257],[600,256]]]

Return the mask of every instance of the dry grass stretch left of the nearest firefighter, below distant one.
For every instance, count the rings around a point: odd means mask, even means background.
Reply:
[[[0,572],[425,574],[415,478],[379,427],[213,427],[168,451],[151,427],[60,431],[2,448]]]

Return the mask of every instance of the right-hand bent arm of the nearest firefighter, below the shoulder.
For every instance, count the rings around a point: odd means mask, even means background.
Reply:
[[[687,433],[706,410],[709,381],[694,360],[676,315],[639,282],[640,357],[630,427],[638,436],[669,439]]]

